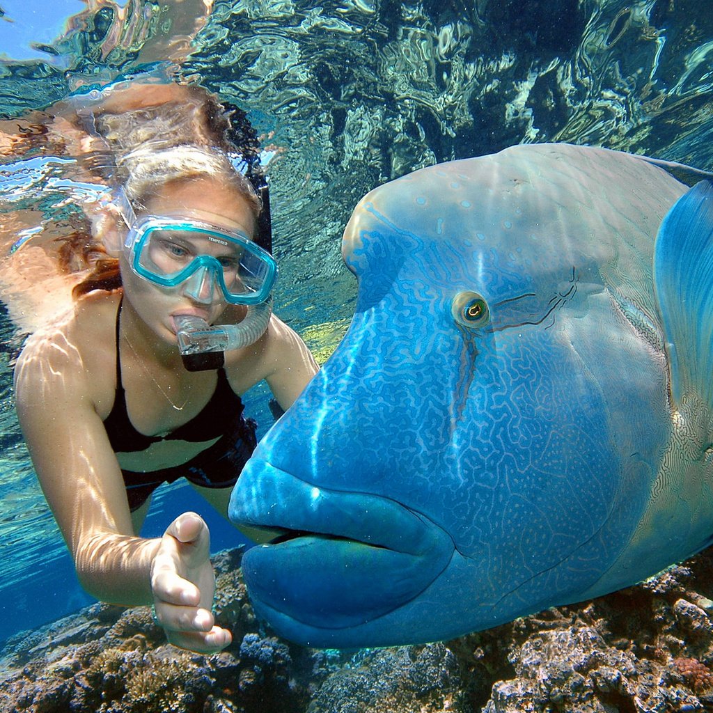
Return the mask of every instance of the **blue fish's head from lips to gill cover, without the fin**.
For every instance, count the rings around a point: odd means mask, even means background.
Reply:
[[[565,207],[492,183],[482,159],[419,170],[347,225],[352,324],[230,505],[284,530],[243,572],[287,638],[443,640],[566,600],[627,537],[617,503],[641,507],[620,487],[602,389],[618,388],[611,340],[621,359],[641,349],[612,319],[611,246],[583,254]]]

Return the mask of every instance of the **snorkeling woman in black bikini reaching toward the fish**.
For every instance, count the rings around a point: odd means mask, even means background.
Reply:
[[[317,367],[275,316],[256,342],[225,352],[222,368],[183,367],[181,319],[240,324],[245,302],[269,294],[271,258],[250,242],[260,203],[214,149],[138,148],[121,163],[123,190],[93,220],[115,260],[99,261],[68,317],[27,342],[17,410],[83,587],[121,605],[153,603],[171,643],[215,652],[230,632],[210,612],[207,527],[183,513],[163,538],[140,538],[150,493],[184,476],[226,513],[255,446],[240,394],[265,379],[287,409]],[[255,284],[241,272],[248,257]]]

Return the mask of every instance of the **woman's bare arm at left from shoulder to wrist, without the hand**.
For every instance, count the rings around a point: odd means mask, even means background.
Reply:
[[[123,478],[90,378],[61,330],[36,334],[16,366],[17,413],[83,587],[103,601],[146,604],[158,540],[133,536]]]

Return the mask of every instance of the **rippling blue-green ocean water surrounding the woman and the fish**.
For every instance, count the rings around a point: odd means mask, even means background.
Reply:
[[[352,314],[339,237],[375,185],[518,143],[568,141],[713,170],[713,13],[699,0],[0,0],[0,118],[42,111],[82,79],[172,60],[241,106],[270,163],[276,311],[319,351]],[[28,158],[28,157],[25,157]],[[79,190],[51,152],[0,155],[0,221],[73,220]],[[80,187],[81,188],[81,187]],[[32,225],[26,225],[32,230]],[[21,345],[0,313],[0,640],[85,605],[14,414]],[[267,391],[247,409],[265,433]],[[187,486],[144,528],[204,514]]]

